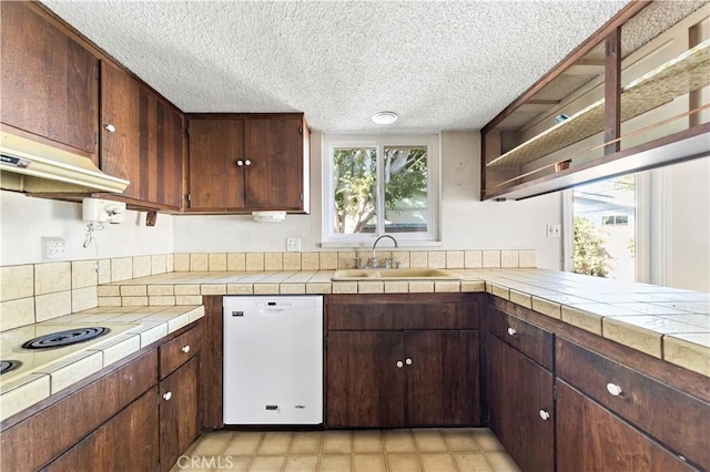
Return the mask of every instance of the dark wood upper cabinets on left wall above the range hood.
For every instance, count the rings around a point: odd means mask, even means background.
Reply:
[[[41,4],[0,6],[3,125],[131,182],[122,194],[98,196],[182,209],[182,112]]]

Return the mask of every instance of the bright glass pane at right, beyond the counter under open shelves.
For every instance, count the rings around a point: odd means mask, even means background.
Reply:
[[[572,212],[572,270],[635,281],[635,176],[625,175],[576,187]]]

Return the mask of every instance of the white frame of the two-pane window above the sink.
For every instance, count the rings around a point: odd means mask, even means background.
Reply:
[[[324,246],[372,245],[385,234],[385,160],[384,148],[389,146],[426,146],[427,148],[427,232],[392,233],[403,245],[439,243],[439,218],[442,201],[442,164],[439,135],[324,135],[323,136],[323,215],[322,244]],[[377,228],[374,233],[338,234],[333,232],[335,215],[333,152],[336,147],[374,147],[377,153]]]

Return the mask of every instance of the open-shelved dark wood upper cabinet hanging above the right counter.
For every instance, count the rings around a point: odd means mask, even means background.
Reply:
[[[699,7],[630,2],[494,117],[481,199],[710,154],[710,11]]]

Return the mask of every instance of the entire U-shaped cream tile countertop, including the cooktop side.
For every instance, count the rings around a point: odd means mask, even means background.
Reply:
[[[99,286],[100,307],[43,324],[103,321],[131,328],[28,374],[0,380],[0,420],[203,317],[203,295],[488,291],[710,377],[710,294],[546,269],[447,270],[462,280],[331,281],[334,270],[195,271]]]

